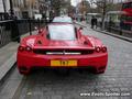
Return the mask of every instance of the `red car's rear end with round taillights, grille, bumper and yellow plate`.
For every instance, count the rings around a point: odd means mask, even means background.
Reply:
[[[108,62],[106,47],[97,48],[31,48],[20,46],[18,67],[20,73],[28,73],[34,67],[86,68],[105,70]]]

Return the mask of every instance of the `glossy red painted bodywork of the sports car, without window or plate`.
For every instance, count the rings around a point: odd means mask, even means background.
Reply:
[[[55,24],[57,25],[57,24]],[[18,68],[22,74],[28,74],[33,67],[51,67],[52,59],[77,61],[77,67],[95,67],[97,73],[105,72],[108,63],[108,52],[102,48],[105,45],[100,40],[94,36],[86,36],[81,31],[77,30],[77,38],[75,41],[53,41],[46,37],[47,30],[44,29],[37,35],[24,37],[18,48]],[[28,47],[29,46],[29,47]],[[28,50],[26,50],[28,47]],[[96,47],[102,51],[96,52]],[[24,48],[24,51],[23,51]],[[30,50],[32,48],[32,50]],[[107,47],[106,47],[107,48]],[[68,52],[92,52],[82,55],[46,55],[36,54],[35,50],[43,50],[43,52],[53,51],[68,51]],[[38,52],[40,53],[40,52]],[[62,66],[63,67],[63,66]],[[62,68],[61,67],[61,68]],[[65,66],[67,67],[67,66]],[[102,69],[99,69],[103,67]],[[52,67],[51,67],[52,68]],[[68,67],[67,67],[68,68]],[[75,68],[75,67],[74,67]]]

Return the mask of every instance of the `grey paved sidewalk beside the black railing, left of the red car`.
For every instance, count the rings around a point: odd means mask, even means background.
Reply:
[[[36,34],[36,31],[33,31],[32,34]],[[22,35],[21,38],[28,35],[30,35],[30,33]],[[15,64],[18,46],[19,43],[11,42],[0,48],[0,81],[2,81],[8,72]]]

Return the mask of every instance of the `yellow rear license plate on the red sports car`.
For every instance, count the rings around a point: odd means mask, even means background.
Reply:
[[[77,61],[51,61],[51,66],[77,66]]]

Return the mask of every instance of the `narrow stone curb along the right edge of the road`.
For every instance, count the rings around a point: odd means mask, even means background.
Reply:
[[[86,25],[81,24],[81,23],[77,23],[75,22],[76,24],[78,25],[81,25],[84,28],[87,28]],[[128,41],[128,42],[131,42],[132,43],[132,38],[129,38],[129,37],[125,37],[125,36],[122,36],[122,35],[118,35],[118,34],[112,34],[110,32],[106,32],[106,31],[100,31],[100,30],[94,30],[96,32],[100,32],[100,33],[103,33],[103,34],[107,34],[107,35],[110,35],[110,36],[113,36],[113,37],[118,37],[120,40],[124,40],[124,41]]]

